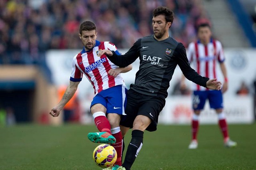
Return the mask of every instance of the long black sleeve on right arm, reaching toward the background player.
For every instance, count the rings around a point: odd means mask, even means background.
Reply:
[[[203,87],[206,87],[206,82],[209,80],[208,77],[202,77],[199,75],[194,69],[190,67],[190,63],[188,62],[188,57],[186,55],[186,48],[182,43],[179,43],[174,51],[174,56],[177,58],[178,65],[184,74],[184,76]]]

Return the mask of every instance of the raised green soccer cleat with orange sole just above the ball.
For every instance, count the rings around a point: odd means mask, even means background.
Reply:
[[[87,136],[88,139],[94,143],[116,143],[116,138],[109,132],[90,132]]]

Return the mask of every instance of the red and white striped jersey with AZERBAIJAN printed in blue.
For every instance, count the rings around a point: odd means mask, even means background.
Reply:
[[[96,40],[96,44],[93,49],[85,51],[85,48],[74,56],[72,61],[72,73],[70,81],[82,81],[83,74],[90,81],[94,88],[94,94],[100,93],[100,91],[114,87],[116,85],[124,85],[124,80],[119,74],[117,77],[108,75],[110,69],[115,69],[116,66],[112,63],[106,55],[98,56],[98,51],[103,49],[109,49],[115,51],[118,55],[121,55],[116,46],[110,42],[99,42]]]

